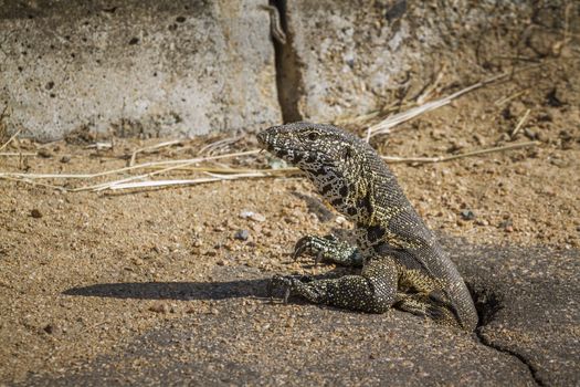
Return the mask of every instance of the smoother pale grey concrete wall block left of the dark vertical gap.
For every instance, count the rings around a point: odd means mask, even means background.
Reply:
[[[0,111],[40,139],[278,123],[265,3],[0,0]]]

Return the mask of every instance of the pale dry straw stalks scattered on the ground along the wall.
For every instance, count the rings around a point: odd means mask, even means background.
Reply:
[[[530,69],[532,66],[520,69],[519,71]],[[367,140],[370,139],[372,136],[377,136],[380,134],[388,134],[392,127],[404,123],[409,119],[412,119],[421,114],[424,114],[426,112],[431,112],[433,109],[436,109],[439,107],[445,106],[451,101],[460,97],[461,95],[464,95],[471,91],[474,91],[476,88],[479,88],[482,86],[485,86],[487,84],[491,84],[493,82],[503,80],[512,73],[504,73],[499,74],[493,77],[489,77],[487,80],[484,80],[482,82],[477,82],[468,87],[465,87],[454,94],[451,94],[446,97],[425,103],[421,106],[415,106],[412,108],[409,108],[405,112],[396,114],[391,117],[388,117],[387,119],[383,119],[382,122],[372,125],[367,130]],[[439,81],[437,81],[439,82]],[[516,93],[519,94],[519,93]],[[513,96],[503,98],[498,102],[496,102],[496,105],[502,105],[506,101],[512,100]],[[365,122],[366,119],[372,118],[378,116],[379,114],[384,113],[382,112],[375,112],[370,115],[361,116],[359,118],[355,118],[355,121],[358,122]],[[526,111],[521,119],[518,122],[517,126],[512,132],[512,137],[514,137],[524,126],[526,123],[528,116],[530,114],[530,111]],[[10,142],[12,142],[20,130],[14,133],[10,139],[4,143],[0,150],[2,150]],[[238,142],[240,137],[230,137],[225,139],[221,139],[211,144],[208,144],[202,148],[203,151],[211,154],[212,151],[217,151],[218,149],[228,148],[231,144]],[[223,180],[238,180],[238,179],[247,179],[247,178],[267,178],[267,177],[281,177],[281,176],[288,176],[292,174],[297,174],[299,170],[297,168],[280,168],[280,169],[254,169],[254,168],[233,168],[233,167],[217,167],[217,166],[200,166],[199,164],[208,163],[208,161],[214,161],[219,159],[225,159],[225,158],[236,158],[236,157],[245,157],[251,155],[256,155],[261,150],[254,149],[254,150],[245,150],[245,151],[235,151],[235,153],[228,153],[217,156],[203,156],[203,157],[196,157],[190,159],[176,159],[176,160],[161,160],[161,161],[149,161],[149,163],[143,163],[143,164],[136,164],[137,156],[139,154],[150,154],[150,153],[157,153],[161,148],[169,147],[172,145],[180,144],[181,140],[170,140],[170,142],[164,142],[159,143],[152,146],[138,148],[135,151],[133,151],[129,165],[125,168],[118,168],[118,169],[109,169],[104,170],[94,174],[22,174],[22,172],[0,172],[0,179],[9,180],[9,181],[18,181],[18,182],[24,182],[30,185],[38,185],[38,186],[44,186],[53,189],[60,189],[65,191],[105,191],[105,190],[123,190],[123,189],[144,189],[144,188],[158,188],[158,187],[170,187],[170,186],[190,186],[190,185],[198,185],[198,184],[208,184],[208,182],[214,182],[214,181],[223,181]],[[525,147],[532,147],[538,145],[538,142],[527,142],[527,143],[519,143],[519,144],[510,144],[505,146],[498,146],[498,147],[492,147],[492,148],[484,148],[484,149],[476,149],[458,155],[450,155],[450,156],[436,156],[436,157],[390,157],[390,156],[381,156],[386,163],[408,163],[408,164],[422,164],[422,163],[443,163],[443,161],[451,161],[460,158],[465,157],[474,157],[474,156],[482,156],[487,155],[492,153],[498,153],[498,151],[506,151],[506,150],[513,150],[518,148],[525,148]],[[104,146],[105,144],[96,144],[93,145],[97,147],[97,149],[106,148]],[[108,144],[107,144],[108,145]],[[109,146],[110,147],[110,146]],[[1,154],[4,156],[13,156],[12,154]],[[14,154],[15,155],[33,155],[33,154]],[[140,171],[137,175],[134,176],[126,176],[129,172],[134,171]],[[159,175],[171,175],[173,172],[178,171],[187,171],[187,172],[201,172],[204,174],[205,177],[194,178],[194,179],[161,179],[161,180],[151,180],[152,177],[159,176]],[[52,185],[44,182],[42,180],[45,179],[52,179],[52,180],[94,180],[97,178],[108,177],[108,176],[123,176],[122,178],[112,179],[105,182],[98,182],[98,184],[89,184],[84,185],[76,188],[70,188],[68,186],[65,186],[64,184],[59,185]]]

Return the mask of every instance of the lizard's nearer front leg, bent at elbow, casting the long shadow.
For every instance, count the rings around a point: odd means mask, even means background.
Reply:
[[[398,282],[399,273],[394,261],[389,257],[380,257],[371,259],[360,275],[308,282],[295,276],[275,275],[271,280],[271,286],[282,287],[287,294],[316,304],[384,313],[397,301]]]

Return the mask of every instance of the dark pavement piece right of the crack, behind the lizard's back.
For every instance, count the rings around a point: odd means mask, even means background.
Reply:
[[[579,251],[452,244],[460,270],[491,312],[482,341],[519,357],[539,385],[578,386]]]

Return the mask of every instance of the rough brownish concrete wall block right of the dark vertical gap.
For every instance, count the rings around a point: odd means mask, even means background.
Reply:
[[[280,91],[285,118],[319,122],[421,95],[439,73],[450,80],[463,72],[465,81],[489,70],[487,53],[512,52],[531,11],[531,1],[500,0],[284,4],[291,40],[281,62],[292,86]]]

